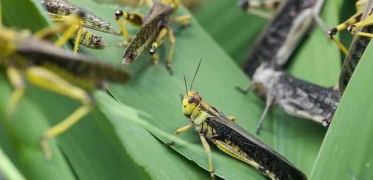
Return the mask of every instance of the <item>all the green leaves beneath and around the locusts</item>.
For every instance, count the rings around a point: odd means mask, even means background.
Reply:
[[[116,9],[140,13],[147,10],[96,3],[104,0],[69,1],[108,20],[114,29],[119,29],[114,21]],[[1,2],[4,23],[9,27],[35,32],[49,24],[36,0]],[[345,8],[343,5],[326,1],[321,17],[328,27],[341,21],[338,12]],[[189,12],[183,8],[177,12],[177,15],[185,14]],[[158,66],[151,65],[151,58],[145,51],[129,66],[132,79],[128,84],[108,84],[108,91],[114,98],[105,92],[93,93],[97,102],[95,109],[50,142],[54,155],[50,161],[44,159],[38,145],[41,134],[79,107],[79,102],[28,84],[26,96],[16,113],[6,119],[4,109],[12,87],[1,70],[2,149],[27,179],[209,179],[208,171],[203,170],[208,169],[207,155],[194,130],[180,135],[184,141],[176,141],[172,148],[162,144],[169,140],[169,134],[175,129],[188,123],[181,113],[179,94],[185,93],[182,75],[185,74],[191,83],[198,61],[203,58],[193,89],[226,115],[235,116],[240,126],[254,133],[264,102],[255,93],[242,95],[234,87],[248,85],[249,79],[237,63],[244,60],[253,40],[267,22],[242,13],[236,2],[230,0],[211,1],[196,17],[197,20],[193,19],[187,28],[172,25],[176,34],[174,75],[170,76],[165,69],[169,50],[167,40],[157,50],[161,55]],[[137,28],[129,28],[133,35]],[[105,50],[81,48],[82,53],[121,66],[125,48],[116,45],[124,38],[95,33],[103,36],[108,47]],[[324,142],[326,130],[323,127],[289,116],[278,107],[269,111],[258,138],[311,179],[350,179],[351,173],[359,178],[371,178],[369,127],[372,124],[369,120],[373,106],[366,96],[371,92],[368,80],[372,66],[368,59],[372,56],[370,52],[363,56]],[[296,49],[286,69],[301,79],[332,86],[337,83],[340,62],[339,50],[315,26]],[[367,110],[361,112],[358,108]],[[210,145],[218,176],[266,179],[258,170],[223,154],[212,143]],[[0,164],[0,171],[5,169]]]

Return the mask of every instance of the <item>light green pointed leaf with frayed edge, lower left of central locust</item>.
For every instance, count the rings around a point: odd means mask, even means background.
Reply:
[[[146,167],[152,179],[208,179],[208,175],[202,169],[196,169],[192,163],[182,163],[185,159],[173,155],[175,152],[154,139],[144,129],[145,127],[152,132],[157,132],[158,135],[169,140],[172,138],[170,133],[152,126],[140,117],[149,115],[126,105],[119,105],[113,98],[102,93],[96,93],[95,97],[101,110],[114,124],[128,152],[132,154],[135,161]],[[191,145],[189,144],[188,147]]]

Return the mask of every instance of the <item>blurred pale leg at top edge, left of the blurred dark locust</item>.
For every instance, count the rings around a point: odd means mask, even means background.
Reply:
[[[267,0],[267,1],[254,1],[254,0],[243,0],[238,2],[238,6],[248,13],[262,17],[264,19],[270,19],[272,17],[271,13],[260,10],[258,8],[265,8],[274,10],[283,0]]]

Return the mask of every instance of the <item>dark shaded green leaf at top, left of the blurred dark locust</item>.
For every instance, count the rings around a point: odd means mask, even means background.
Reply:
[[[243,12],[239,1],[208,1],[196,19],[211,37],[241,65],[268,20]]]

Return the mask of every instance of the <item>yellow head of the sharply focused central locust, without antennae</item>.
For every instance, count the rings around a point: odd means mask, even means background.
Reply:
[[[185,116],[191,116],[193,111],[197,108],[202,100],[201,95],[198,92],[188,92],[182,99],[182,112]]]

